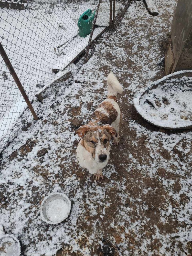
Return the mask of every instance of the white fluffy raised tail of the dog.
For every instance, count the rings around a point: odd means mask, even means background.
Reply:
[[[107,83],[108,83],[108,96],[116,96],[117,92],[122,93],[123,87],[117,80],[117,78],[114,76],[113,72],[110,72],[107,77]]]

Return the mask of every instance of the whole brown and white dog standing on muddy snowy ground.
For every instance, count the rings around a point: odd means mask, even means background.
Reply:
[[[102,170],[107,165],[110,152],[110,139],[119,144],[120,108],[117,103],[117,92],[123,88],[114,74],[107,77],[107,98],[93,112],[88,124],[80,126],[75,134],[81,137],[76,155],[79,165],[87,168],[96,180],[103,179]]]

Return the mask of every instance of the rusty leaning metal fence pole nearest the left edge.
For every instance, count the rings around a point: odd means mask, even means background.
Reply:
[[[33,109],[33,106],[31,105],[31,102],[29,101],[29,99],[27,97],[27,94],[26,94],[26,92],[25,92],[21,82],[20,82],[17,74],[15,73],[15,70],[14,70],[14,68],[13,68],[13,66],[12,66],[12,64],[11,64],[11,62],[10,62],[6,52],[5,52],[5,50],[3,49],[3,46],[1,44],[1,42],[0,42],[0,54],[1,54],[1,57],[3,58],[3,60],[5,61],[5,64],[6,64],[7,68],[9,69],[10,74],[12,75],[13,79],[15,80],[15,83],[17,84],[17,86],[18,86],[18,88],[19,88],[19,90],[20,90],[24,100],[26,101],[27,106],[28,106],[29,110],[31,111],[34,119],[38,120],[38,117],[37,117],[37,115],[36,115],[36,113],[35,113],[35,111]]]

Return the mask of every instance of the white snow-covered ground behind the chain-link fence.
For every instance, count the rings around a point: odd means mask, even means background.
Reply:
[[[107,0],[105,4],[108,6]],[[78,19],[84,11],[95,10],[96,6],[93,0],[33,0],[28,1],[25,10],[0,8],[1,43],[30,101],[67,70],[73,70],[70,66],[63,71],[89,41],[89,36],[78,36]],[[104,29],[102,23],[105,25],[109,15],[102,16],[102,12],[107,11],[100,12],[100,27],[95,28],[93,39]],[[3,147],[26,103],[1,56],[0,70],[0,147]]]

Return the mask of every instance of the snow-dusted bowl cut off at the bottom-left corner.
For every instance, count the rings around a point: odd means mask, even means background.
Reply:
[[[19,256],[21,247],[19,240],[13,235],[0,236],[0,255],[1,256]]]

